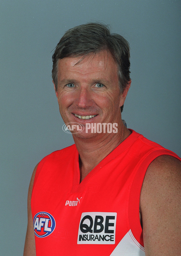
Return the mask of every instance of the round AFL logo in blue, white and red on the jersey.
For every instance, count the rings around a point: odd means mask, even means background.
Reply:
[[[55,219],[46,212],[39,212],[33,218],[34,232],[37,237],[46,237],[55,229]]]

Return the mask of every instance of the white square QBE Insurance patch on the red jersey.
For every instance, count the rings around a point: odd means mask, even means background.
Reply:
[[[78,244],[115,244],[117,213],[82,213]]]

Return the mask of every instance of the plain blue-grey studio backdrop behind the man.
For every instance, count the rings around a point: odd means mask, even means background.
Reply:
[[[91,21],[130,43],[128,128],[181,153],[179,0],[1,1],[0,256],[23,254],[34,166],[73,144],[62,130],[51,51],[67,29]]]

